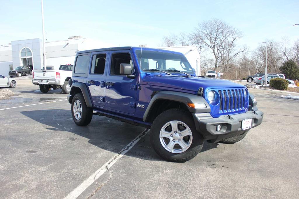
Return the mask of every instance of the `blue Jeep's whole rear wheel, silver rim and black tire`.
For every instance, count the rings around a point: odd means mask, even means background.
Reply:
[[[71,113],[78,126],[86,126],[91,122],[92,109],[86,106],[82,93],[77,93],[72,100]]]

